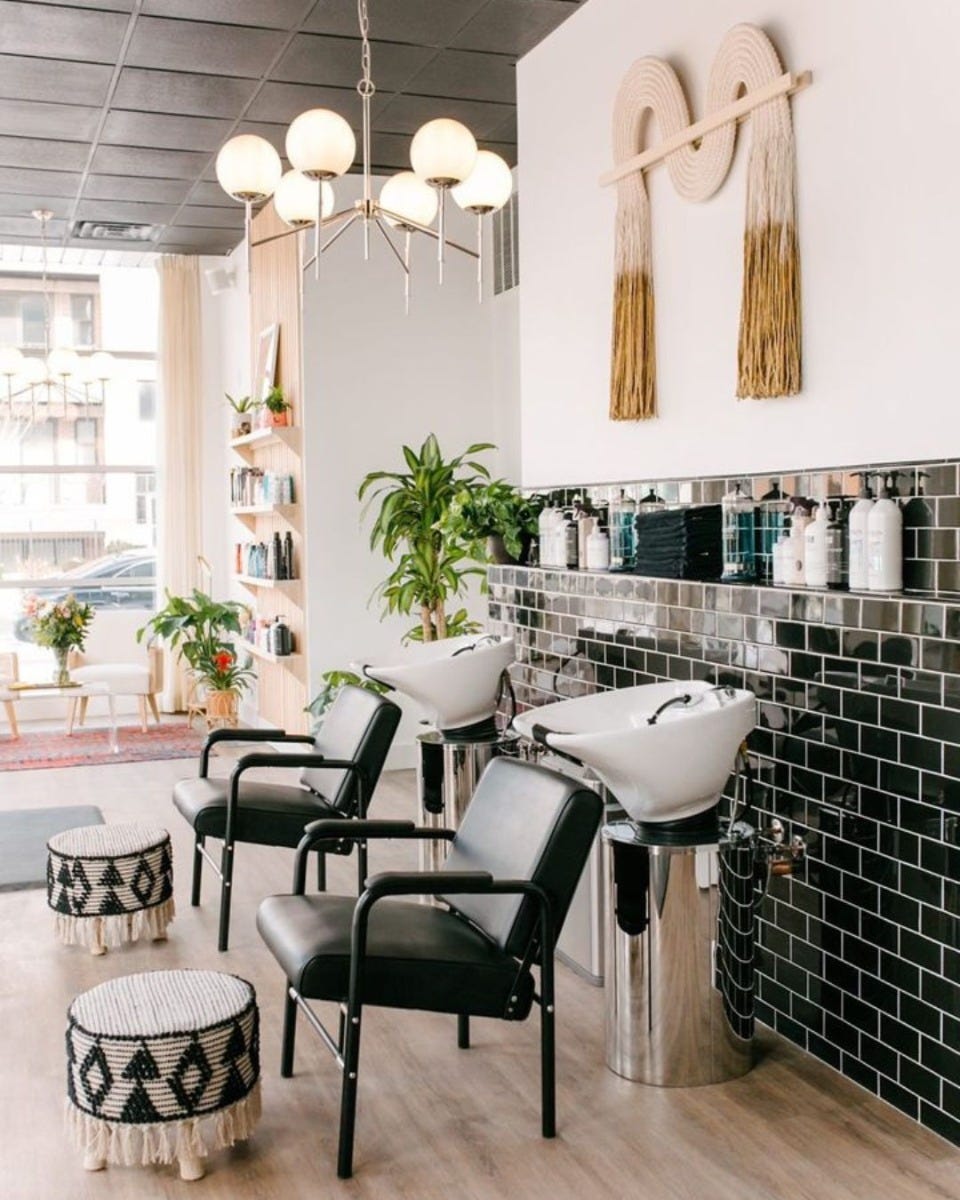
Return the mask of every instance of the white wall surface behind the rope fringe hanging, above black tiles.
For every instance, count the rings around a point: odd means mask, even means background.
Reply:
[[[662,168],[653,205],[660,419],[607,419],[613,101],[667,58],[701,107],[724,34],[751,20],[785,65],[803,269],[804,390],[734,398],[746,146],[701,205]],[[803,468],[956,451],[955,58],[960,7],[918,0],[588,0],[518,65],[523,482]],[[655,134],[655,130],[654,130]],[[744,142],[749,139],[749,128]]]

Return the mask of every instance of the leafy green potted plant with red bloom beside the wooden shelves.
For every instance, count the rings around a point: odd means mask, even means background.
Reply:
[[[253,671],[240,664],[230,635],[239,636],[246,610],[235,600],[214,600],[197,588],[188,596],[166,593],[167,604],[137,630],[148,632],[176,652],[192,674],[212,691],[242,691]],[[229,661],[227,661],[229,659]]]

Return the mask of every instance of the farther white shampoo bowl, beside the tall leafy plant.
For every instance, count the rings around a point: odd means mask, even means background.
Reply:
[[[438,730],[476,725],[497,712],[500,676],[516,658],[512,637],[468,634],[397,650],[364,674],[421,704]]]

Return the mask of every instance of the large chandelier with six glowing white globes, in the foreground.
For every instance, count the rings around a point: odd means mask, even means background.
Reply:
[[[320,256],[350,226],[359,223],[364,234],[364,258],[370,257],[371,229],[386,241],[404,275],[404,296],[409,308],[410,239],[415,233],[437,241],[437,272],[443,283],[446,248],[476,259],[476,281],[482,299],[482,218],[502,209],[510,199],[514,181],[504,160],[490,150],[478,150],[476,139],[461,121],[437,118],[422,125],[410,143],[412,170],[402,170],[385,181],[379,198],[373,197],[371,169],[371,100],[376,92],[371,66],[370,14],[367,0],[358,0],[361,78],[356,84],[361,107],[362,196],[350,208],[334,211],[331,180],[346,174],[356,157],[356,138],[348,121],[329,108],[301,113],[287,130],[286,151],[292,170],[283,174],[280,155],[264,138],[241,133],[230,138],[216,161],[221,187],[246,208],[247,266],[252,246],[262,246],[300,229],[313,227],[313,266],[319,276]],[[476,248],[450,241],[446,236],[445,202],[454,202],[476,216]],[[252,239],[252,209],[274,197],[277,216],[290,228],[284,233]],[[437,221],[437,228],[433,223]],[[334,230],[325,241],[322,230]],[[390,230],[403,234],[403,248]]]

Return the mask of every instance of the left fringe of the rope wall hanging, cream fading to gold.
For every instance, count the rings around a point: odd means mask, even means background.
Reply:
[[[642,179],[620,186],[616,256],[610,418],[643,421],[656,416],[656,352],[650,205]]]

